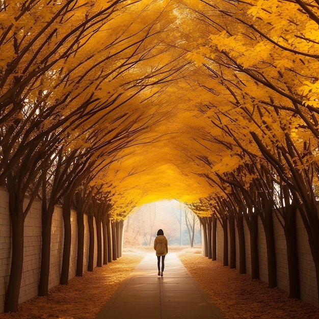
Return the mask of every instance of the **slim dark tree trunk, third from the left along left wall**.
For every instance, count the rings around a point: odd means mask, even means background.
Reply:
[[[71,200],[65,197],[63,203],[63,223],[64,223],[64,245],[60,284],[67,285],[70,269],[71,252]]]

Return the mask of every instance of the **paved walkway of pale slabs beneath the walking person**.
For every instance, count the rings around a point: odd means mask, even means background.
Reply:
[[[125,258],[125,257],[124,257]],[[96,319],[222,319],[178,257],[168,253],[164,276],[157,276],[155,253],[147,254]]]

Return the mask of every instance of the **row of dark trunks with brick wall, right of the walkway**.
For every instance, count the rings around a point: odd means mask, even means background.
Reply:
[[[299,281],[299,296],[297,298],[318,307],[315,265],[308,243],[307,232],[299,212],[297,211],[296,215],[298,274],[292,276],[293,279],[290,280],[287,245],[283,227],[280,225],[279,220],[274,216],[274,269],[268,262],[269,247],[267,247],[266,236],[263,231],[261,220],[257,215],[256,218],[256,240],[252,241],[251,232],[249,231],[245,219],[243,219],[244,231],[238,232],[236,220],[234,220],[235,227],[232,227],[230,226],[231,223],[229,220],[222,221],[216,217],[200,218],[201,225],[203,226],[203,254],[212,260],[222,262],[224,266],[239,270],[241,274],[246,273],[251,275],[253,279],[259,279],[268,283],[270,288],[277,286],[290,293],[290,297],[296,298],[296,296],[291,296],[291,294],[296,295],[296,291],[291,290],[294,290],[296,283]],[[244,240],[243,247],[240,247],[238,233],[244,234],[244,238],[242,237],[241,240]],[[272,264],[274,264],[274,262],[272,262]],[[275,285],[274,279],[272,278],[274,276],[276,277]]]

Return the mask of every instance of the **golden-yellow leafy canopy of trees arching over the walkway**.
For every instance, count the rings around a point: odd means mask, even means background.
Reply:
[[[47,203],[43,229],[56,204],[119,221],[177,199],[203,218],[254,227],[258,215],[271,238],[275,210],[288,243],[298,207],[319,278],[318,10],[0,0],[0,183],[13,237],[27,196]],[[21,265],[14,239],[13,250]]]

